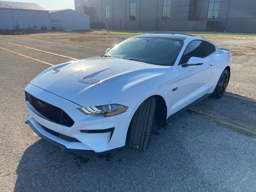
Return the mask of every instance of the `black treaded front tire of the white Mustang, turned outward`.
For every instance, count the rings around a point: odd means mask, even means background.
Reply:
[[[130,147],[139,150],[148,148],[155,111],[156,98],[154,97],[145,100],[136,110],[128,132],[128,145]]]

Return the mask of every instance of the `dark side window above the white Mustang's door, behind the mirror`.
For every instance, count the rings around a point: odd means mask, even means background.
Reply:
[[[186,47],[180,64],[187,63],[190,57],[204,58],[215,51],[215,46],[205,41],[192,41]]]

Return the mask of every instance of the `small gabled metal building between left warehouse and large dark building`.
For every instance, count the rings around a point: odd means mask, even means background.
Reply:
[[[57,30],[88,30],[90,16],[72,9],[49,11],[51,26]]]

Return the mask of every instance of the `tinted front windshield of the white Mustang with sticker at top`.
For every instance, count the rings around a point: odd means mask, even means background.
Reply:
[[[182,41],[174,39],[128,38],[112,48],[105,56],[172,66],[182,46]]]

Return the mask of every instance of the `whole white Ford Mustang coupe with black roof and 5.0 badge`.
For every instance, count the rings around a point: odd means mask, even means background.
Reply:
[[[221,98],[230,65],[230,51],[204,38],[134,36],[34,78],[25,88],[26,123],[64,152],[144,150],[153,124],[165,126],[207,96]]]

